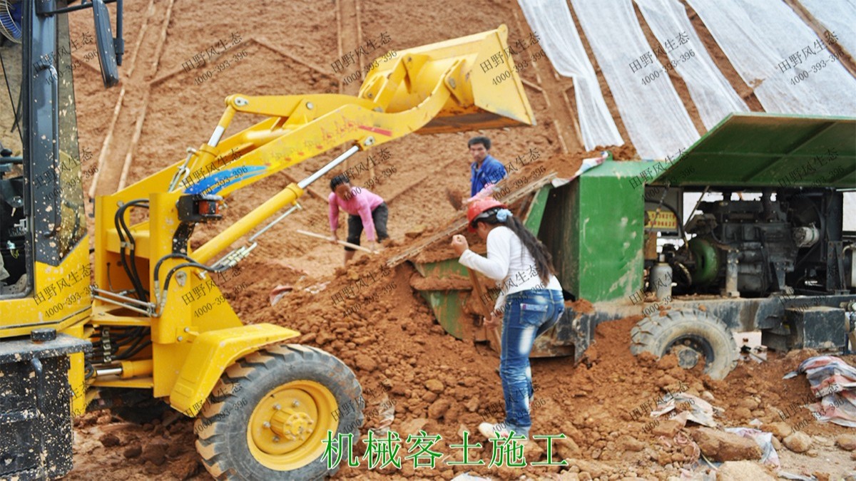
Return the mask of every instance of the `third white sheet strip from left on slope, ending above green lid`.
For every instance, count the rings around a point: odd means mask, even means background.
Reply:
[[[642,16],[651,27],[660,45],[675,65],[675,70],[687,83],[690,97],[698,108],[698,116],[705,128],[713,128],[732,112],[749,110],[734,87],[716,68],[716,64],[687,18],[687,11],[677,0],[636,0]],[[670,48],[675,35],[687,33],[687,43]],[[693,56],[689,56],[690,52]]]

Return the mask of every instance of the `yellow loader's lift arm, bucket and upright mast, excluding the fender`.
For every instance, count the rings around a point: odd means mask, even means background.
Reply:
[[[312,181],[357,151],[412,133],[532,125],[534,117],[523,84],[514,72],[513,60],[506,54],[507,37],[506,27],[501,26],[461,39],[389,52],[384,56],[388,60],[378,61],[377,67],[366,76],[356,97],[341,94],[230,95],[225,100],[226,110],[207,143],[199,149],[189,149],[184,161],[105,196],[98,203],[101,210],[97,223],[103,227],[96,229],[96,282],[118,284],[116,291],[134,287],[130,282],[117,282],[115,277],[110,279],[98,273],[98,265],[111,262],[125,265],[122,252],[129,246],[134,252],[132,260],[148,262],[147,280],[134,274],[135,290],[145,293],[149,285],[153,285],[158,298],[158,284],[163,281],[166,288],[169,282],[163,278],[163,272],[179,269],[180,262],[205,267],[265,219],[294,205]],[[510,76],[497,77],[504,69],[508,69]],[[236,114],[265,118],[226,137]],[[167,214],[149,208],[158,205],[161,210],[175,210],[173,206],[180,203],[182,197],[185,204],[189,197],[193,197],[193,202],[217,202],[237,189],[339,145],[347,145],[348,150],[324,169],[285,187],[193,252],[188,246],[193,223],[205,222],[217,215],[205,220],[198,220],[199,216],[188,220],[175,213],[163,217]],[[150,220],[128,229],[125,237],[130,242],[126,242],[121,232],[124,229],[110,229],[110,226],[121,223],[116,214],[124,216],[121,206],[129,203],[149,209]],[[175,220],[181,228],[176,227]],[[130,236],[132,231],[133,237]],[[241,248],[243,250],[229,253],[212,264],[213,268],[221,270],[235,265],[253,246],[251,241],[250,246]],[[134,262],[128,264],[133,267]],[[156,272],[157,266],[162,268],[160,275]],[[143,300],[145,296],[138,297]],[[157,303],[163,307],[165,301],[164,296]],[[152,312],[151,305],[142,306],[142,309]],[[158,311],[156,315],[160,316],[162,309]]]

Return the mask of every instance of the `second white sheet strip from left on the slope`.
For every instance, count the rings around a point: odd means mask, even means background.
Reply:
[[[645,75],[663,70],[652,57],[631,0],[572,0],[580,25],[615,98],[627,134],[643,158],[675,157],[698,139],[698,131],[668,75],[643,85]],[[645,56],[650,68],[636,69]],[[640,62],[641,64],[641,62]]]

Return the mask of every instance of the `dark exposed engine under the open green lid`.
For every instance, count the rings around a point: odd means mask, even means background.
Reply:
[[[677,294],[764,297],[844,294],[851,262],[833,189],[764,189],[760,199],[702,202],[684,227],[686,246],[663,246]],[[852,247],[851,247],[852,248]]]

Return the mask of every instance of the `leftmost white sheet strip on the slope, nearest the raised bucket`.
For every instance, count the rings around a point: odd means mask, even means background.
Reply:
[[[580,41],[568,3],[565,0],[518,1],[529,27],[541,38],[544,53],[556,72],[574,79],[574,98],[586,150],[597,145],[624,145],[609,107],[603,101],[597,75]]]

